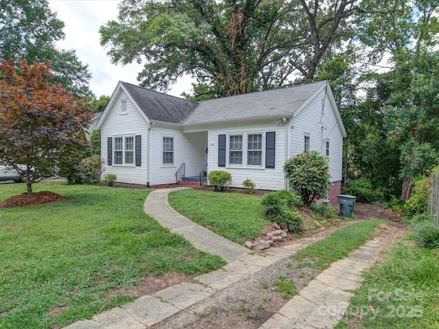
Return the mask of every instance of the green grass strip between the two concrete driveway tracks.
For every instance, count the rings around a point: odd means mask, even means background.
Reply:
[[[292,259],[314,269],[327,269],[332,263],[348,256],[349,252],[366,243],[375,228],[385,221],[370,219],[354,223],[333,232],[322,241],[301,249]]]

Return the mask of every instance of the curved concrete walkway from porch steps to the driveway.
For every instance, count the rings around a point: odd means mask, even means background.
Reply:
[[[250,252],[249,249],[199,226],[180,215],[174,208],[171,208],[167,202],[167,195],[169,192],[181,189],[185,189],[185,187],[163,188],[152,191],[148,195],[143,209],[147,215],[158,221],[161,226],[169,228],[172,233],[185,236],[185,239],[192,243],[195,248],[221,256],[227,263]]]

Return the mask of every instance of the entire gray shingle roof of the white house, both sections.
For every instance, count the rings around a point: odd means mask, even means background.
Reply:
[[[289,117],[326,83],[313,82],[196,103],[121,82],[148,119],[187,125]]]

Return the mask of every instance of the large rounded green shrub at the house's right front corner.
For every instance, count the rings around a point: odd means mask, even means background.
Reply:
[[[329,185],[329,164],[317,151],[305,151],[283,165],[290,186],[302,197],[305,206],[326,195]]]

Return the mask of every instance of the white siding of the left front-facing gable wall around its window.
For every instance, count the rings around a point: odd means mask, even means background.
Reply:
[[[139,110],[134,106],[134,103],[128,98],[128,96],[120,90],[119,95],[112,104],[111,108],[107,110],[108,115],[101,127],[101,154],[104,158],[104,166],[102,177],[108,173],[115,174],[117,176],[116,182],[124,182],[130,184],[147,184],[147,130],[148,123],[145,118],[139,112]],[[127,113],[121,115],[122,101],[126,100]],[[117,137],[134,137],[135,135],[141,135],[141,166],[136,167],[134,164],[136,162],[135,157],[135,138],[134,138],[134,149],[133,149],[133,162],[127,165],[116,164],[115,159],[115,138]],[[112,138],[112,165],[108,165],[108,137]],[[125,141],[122,141],[125,143]],[[123,145],[124,146],[124,145]],[[122,149],[123,149],[122,146]],[[130,150],[127,150],[130,152]],[[122,154],[122,158],[127,158],[127,154]],[[128,154],[128,162],[130,162],[130,155]],[[123,163],[123,160],[122,160]]]

